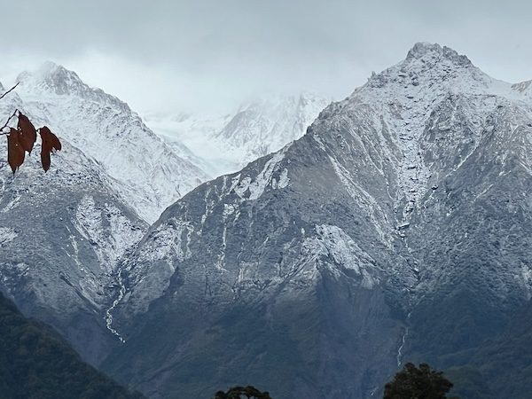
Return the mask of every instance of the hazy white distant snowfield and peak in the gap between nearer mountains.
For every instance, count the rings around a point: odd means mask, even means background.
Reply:
[[[236,113],[217,118],[148,114],[145,121],[160,137],[190,148],[212,176],[221,176],[303,136],[329,102],[303,92],[247,101]]]

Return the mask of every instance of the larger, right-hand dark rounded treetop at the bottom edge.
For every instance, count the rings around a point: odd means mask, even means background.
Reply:
[[[428,364],[407,363],[384,387],[383,399],[446,399],[452,383]],[[456,397],[449,399],[458,399]]]

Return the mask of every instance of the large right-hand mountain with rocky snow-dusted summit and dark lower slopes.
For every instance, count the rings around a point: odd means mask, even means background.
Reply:
[[[151,397],[247,381],[365,399],[405,361],[512,340],[532,297],[527,93],[418,43],[305,136],[201,184],[122,263],[127,341],[106,370]],[[481,371],[495,397],[500,367]]]

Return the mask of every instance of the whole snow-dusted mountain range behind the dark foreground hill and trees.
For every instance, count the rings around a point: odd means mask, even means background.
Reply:
[[[0,290],[124,385],[366,399],[423,361],[460,397],[528,397],[529,82],[417,43],[340,102],[153,133],[60,66],[20,80],[0,116],[65,149],[13,178],[0,148]]]

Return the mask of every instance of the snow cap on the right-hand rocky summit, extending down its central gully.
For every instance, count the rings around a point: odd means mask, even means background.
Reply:
[[[408,221],[412,210],[419,207],[420,199],[430,189],[427,182],[432,174],[425,164],[425,149],[420,143],[424,132],[430,127],[434,105],[453,95],[463,98],[464,103],[473,101],[475,105],[470,108],[474,119],[479,108],[488,113],[494,103],[502,99],[528,101],[525,94],[528,86],[528,82],[512,86],[493,79],[473,66],[467,57],[448,47],[417,43],[403,62],[373,74],[364,86],[356,89],[348,98],[328,107],[324,115],[326,117],[329,113],[339,111],[361,114],[365,112],[364,107],[369,107],[367,117],[373,119],[372,126],[378,134],[383,131],[390,134],[393,143],[381,140],[381,151],[387,160],[394,163],[398,174],[399,190],[395,192],[397,207],[403,199],[407,202],[407,206],[402,207],[403,211],[397,215],[398,223],[403,223]],[[434,123],[438,129],[447,131],[453,121]],[[484,119],[472,121],[477,138],[485,129],[485,124]],[[356,127],[353,129],[356,131]],[[323,149],[321,138],[316,135],[314,138]]]

